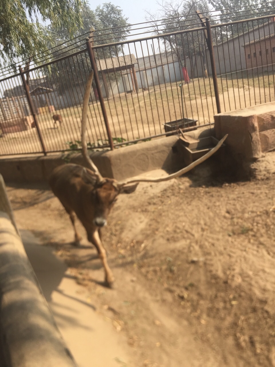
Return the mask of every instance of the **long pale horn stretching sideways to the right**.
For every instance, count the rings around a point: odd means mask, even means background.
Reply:
[[[206,159],[208,159],[209,157],[211,157],[215,152],[217,152],[217,150],[221,147],[221,145],[223,144],[223,142],[225,141],[225,139],[227,138],[228,134],[226,134],[218,143],[217,145],[211,149],[208,153],[206,153],[204,156],[202,156],[201,158],[197,159],[196,161],[194,161],[193,163],[189,164],[189,166],[182,168],[180,171],[177,171],[169,176],[166,177],[162,177],[162,178],[137,178],[137,179],[129,179],[127,181],[124,182],[119,182],[119,185],[124,186],[127,185],[128,183],[133,183],[133,182],[161,182],[161,181],[168,181],[172,178],[176,178],[179,177],[185,173],[187,173],[188,171],[192,170],[192,168],[198,166],[198,164],[202,163],[203,161],[205,161]]]

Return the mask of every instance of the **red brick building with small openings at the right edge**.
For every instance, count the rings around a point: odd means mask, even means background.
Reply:
[[[272,64],[275,63],[275,33],[248,41],[242,47],[245,48],[247,69],[255,68],[256,71],[257,66],[271,69]]]

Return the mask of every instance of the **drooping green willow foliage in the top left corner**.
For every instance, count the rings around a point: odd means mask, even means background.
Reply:
[[[74,33],[82,26],[82,0],[2,0],[0,1],[0,57],[4,64],[47,49],[50,36],[39,21],[55,27],[68,26]]]

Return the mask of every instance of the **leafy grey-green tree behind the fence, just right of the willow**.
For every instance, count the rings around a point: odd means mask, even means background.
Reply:
[[[49,32],[51,32],[52,38],[55,40],[55,44],[61,44],[56,47],[53,52],[53,57],[58,59],[65,55],[70,55],[72,52],[81,50],[85,46],[85,38],[89,35],[90,28],[94,28],[94,45],[104,45],[108,43],[120,42],[125,40],[125,37],[129,34],[130,25],[128,18],[125,18],[123,11],[119,6],[115,6],[111,3],[104,3],[102,7],[96,7],[95,11],[85,4],[81,11],[83,18],[83,26],[81,29],[77,29],[73,33],[73,37],[80,36],[73,43],[72,47],[64,49],[64,41],[70,36],[66,27],[56,27],[54,25],[49,26]],[[107,30],[106,30],[107,28]],[[114,33],[115,32],[115,33]],[[95,51],[96,59],[104,59],[110,57],[117,57],[122,52],[122,46],[120,44],[111,47],[98,48]],[[55,65],[52,65],[52,71]],[[69,73],[67,72],[69,68]],[[58,88],[60,91],[68,89],[70,86],[70,75],[76,75],[79,80],[81,78],[85,80],[85,73],[88,70],[87,59],[83,55],[68,58],[61,61],[61,67],[56,73],[56,77],[59,79]],[[70,75],[69,75],[70,74]],[[99,76],[101,76],[99,74]],[[109,73],[109,78],[114,79],[114,73]]]

